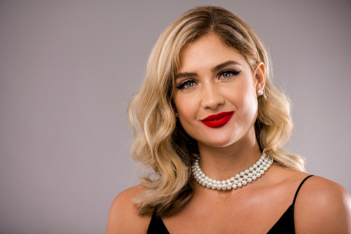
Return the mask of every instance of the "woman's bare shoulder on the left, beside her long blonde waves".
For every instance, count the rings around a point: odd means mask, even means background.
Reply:
[[[144,190],[145,187],[137,185],[114,198],[108,213],[106,233],[146,233],[151,217],[139,215],[139,205],[132,202]]]

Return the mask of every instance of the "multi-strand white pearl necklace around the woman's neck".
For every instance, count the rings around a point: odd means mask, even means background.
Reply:
[[[205,173],[203,173],[203,171],[200,168],[199,160],[200,157],[197,157],[197,159],[195,159],[194,164],[192,164],[192,174],[194,175],[194,178],[202,186],[212,189],[217,188],[218,190],[230,190],[232,188],[240,188],[243,185],[251,183],[252,181],[261,177],[261,175],[263,175],[273,163],[273,159],[270,156],[265,155],[265,153],[263,153],[260,159],[257,160],[257,162],[253,164],[250,168],[241,171],[241,173],[235,175],[235,177],[231,177],[230,179],[220,181],[212,179],[205,175]]]

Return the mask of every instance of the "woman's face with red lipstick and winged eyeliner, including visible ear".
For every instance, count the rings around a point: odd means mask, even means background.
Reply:
[[[261,62],[252,71],[245,58],[223,46],[219,37],[201,37],[181,53],[174,95],[181,125],[199,147],[256,140],[257,90],[264,83]]]

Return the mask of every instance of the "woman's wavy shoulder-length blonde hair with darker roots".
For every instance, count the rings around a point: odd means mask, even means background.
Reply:
[[[132,157],[149,170],[141,177],[146,191],[134,198],[139,213],[170,215],[192,196],[190,166],[198,153],[197,142],[183,130],[174,115],[174,77],[179,72],[185,46],[205,35],[217,35],[236,49],[253,69],[265,64],[265,88],[258,99],[254,128],[261,151],[275,162],[304,170],[303,160],[283,149],[292,133],[290,103],[270,81],[270,58],[261,39],[242,19],[214,6],[194,8],[174,21],[152,49],[146,78],[128,107],[134,131]]]

